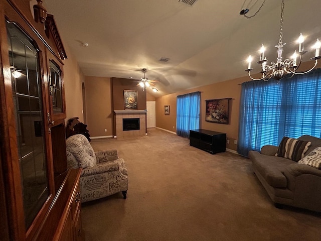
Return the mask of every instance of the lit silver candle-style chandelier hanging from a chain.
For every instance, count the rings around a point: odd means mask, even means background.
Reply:
[[[265,0],[264,0],[263,4],[261,5],[261,7],[259,8],[259,10],[251,17],[254,17],[260,11],[260,9],[264,5],[264,3],[265,3]],[[302,34],[300,34],[300,36],[298,38],[298,43],[299,43],[298,52],[296,52],[296,50],[294,51],[294,54],[292,56],[292,60],[285,59],[284,61],[282,61],[282,51],[283,51],[283,46],[285,45],[285,43],[282,42],[283,10],[284,10],[284,0],[282,0],[282,4],[281,4],[280,39],[279,39],[279,43],[277,45],[275,45],[275,47],[277,48],[276,62],[271,62],[271,65],[267,64],[267,59],[264,56],[265,48],[264,48],[264,45],[262,45],[262,47],[260,49],[260,60],[257,62],[258,64],[261,65],[260,72],[262,73],[262,78],[255,79],[251,76],[250,72],[251,72],[251,70],[253,70],[253,68],[251,68],[251,62],[252,62],[251,55],[247,59],[248,67],[245,71],[248,72],[248,75],[252,80],[268,81],[271,78],[276,79],[276,80],[280,80],[283,77],[291,78],[294,74],[306,74],[315,68],[315,66],[317,64],[317,60],[319,58],[321,58],[321,56],[320,56],[321,42],[317,39],[314,44],[315,56],[313,58],[311,58],[311,60],[315,61],[314,66],[311,69],[306,70],[304,72],[296,72],[296,70],[299,68],[299,66],[301,64],[302,55],[307,52],[307,51],[304,51],[304,49],[303,49],[304,37]],[[245,15],[248,11],[249,11],[248,9],[244,9],[240,12],[240,14],[244,15],[244,17],[246,17],[246,18],[251,18],[251,17],[247,17]],[[299,58],[299,59],[297,60],[297,58]]]

